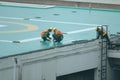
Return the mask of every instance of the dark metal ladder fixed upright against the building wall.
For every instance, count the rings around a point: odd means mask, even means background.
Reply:
[[[102,25],[106,27],[106,32],[108,32],[108,26]],[[107,80],[107,53],[108,53],[108,43],[106,39],[101,39],[101,80]]]

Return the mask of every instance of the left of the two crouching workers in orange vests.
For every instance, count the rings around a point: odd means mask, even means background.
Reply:
[[[43,39],[43,41],[50,41],[51,40],[50,32],[52,32],[52,28],[44,30],[41,32],[41,38]]]

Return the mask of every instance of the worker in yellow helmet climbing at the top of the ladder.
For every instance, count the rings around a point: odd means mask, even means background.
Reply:
[[[97,37],[96,39],[99,39],[101,37],[101,39],[106,39],[108,44],[110,44],[110,39],[108,37],[108,33],[102,28],[102,27],[98,27],[96,28],[96,32],[97,32]]]

